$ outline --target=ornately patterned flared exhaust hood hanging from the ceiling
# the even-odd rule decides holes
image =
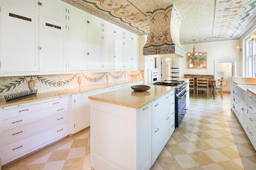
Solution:
[[[179,37],[182,18],[174,4],[146,12],[146,15],[150,31],[143,55],[157,58],[185,57]]]

